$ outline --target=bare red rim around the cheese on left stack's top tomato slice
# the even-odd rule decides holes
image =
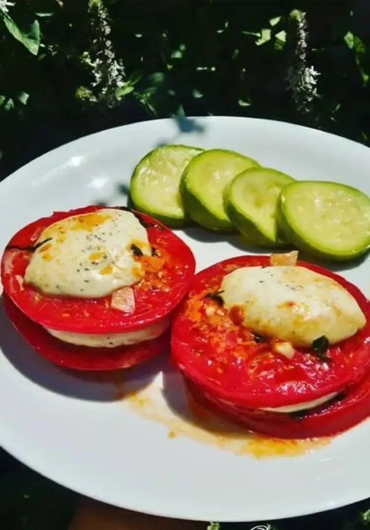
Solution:
[[[119,207],[112,208],[114,209]],[[98,211],[101,209],[105,208],[98,206],[87,206],[65,212],[56,212],[49,217],[43,217],[21,228],[20,231],[18,231],[12,237],[8,245],[27,246],[34,244],[42,229],[49,226],[50,224],[72,215],[91,213],[92,211]],[[177,261],[172,263],[172,286],[168,293],[161,292],[159,294],[158,291],[154,290],[153,293],[148,294],[147,291],[142,291],[144,292],[143,304],[145,305],[145,299],[147,298],[150,300],[150,304],[152,305],[149,310],[135,313],[133,315],[127,315],[121,314],[117,310],[112,310],[110,307],[103,307],[104,299],[86,301],[86,299],[82,298],[61,299],[46,296],[41,297],[41,301],[38,302],[38,307],[40,309],[38,309],[37,307],[32,306],[29,301],[32,293],[36,295],[36,290],[30,286],[27,286],[27,293],[30,293],[30,296],[27,293],[26,295],[22,293],[22,289],[14,275],[14,272],[10,270],[14,260],[19,258],[20,254],[22,254],[21,251],[16,250],[5,250],[2,258],[1,276],[4,290],[6,291],[7,295],[11,297],[17,307],[20,308],[21,311],[23,311],[27,316],[29,316],[31,320],[45,327],[60,331],[74,331],[82,333],[108,333],[119,332],[122,330],[130,331],[161,320],[173,310],[173,308],[186,294],[188,286],[195,272],[195,258],[189,246],[186,245],[186,243],[184,243],[172,231],[170,231],[169,228],[166,228],[162,223],[150,216],[138,213],[135,210],[130,211],[132,211],[137,217],[140,217],[140,219],[142,219],[146,225],[149,225],[147,230],[151,243],[153,244],[154,240],[155,245],[156,241],[160,240],[162,241],[162,244],[167,245],[167,248],[172,245],[174,249],[173,255],[174,253],[177,255],[177,260],[180,260],[183,266],[181,270],[175,270],[175,268],[178,266],[175,266],[174,263],[177,263]],[[31,240],[32,234],[36,234],[33,241]],[[135,289],[138,289],[135,292],[140,290],[137,286],[138,284],[134,286],[134,291]],[[61,302],[61,300],[63,302]],[[95,304],[95,302],[97,302],[97,304]],[[54,303],[58,304],[58,306],[55,308],[54,312],[49,311],[49,308],[52,308],[51,305]],[[76,305],[76,310],[73,307],[73,304]],[[68,307],[68,311],[64,312],[68,315],[66,318],[61,318],[60,316],[61,314],[64,315],[62,311],[63,306]],[[80,311],[82,317],[81,314],[78,314],[78,311]],[[87,316],[86,311],[88,312]]]

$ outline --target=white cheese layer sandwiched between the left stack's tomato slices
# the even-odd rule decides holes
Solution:
[[[169,325],[170,319],[169,317],[166,317],[146,328],[127,331],[126,333],[89,334],[57,331],[49,328],[45,328],[45,330],[53,335],[53,337],[76,346],[89,346],[90,348],[116,348],[117,346],[129,346],[145,340],[156,339],[169,328]]]

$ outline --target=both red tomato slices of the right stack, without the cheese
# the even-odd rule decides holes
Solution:
[[[197,401],[247,429],[282,438],[336,434],[370,415],[370,303],[344,278],[299,261],[301,267],[345,287],[367,323],[353,337],[330,346],[325,359],[303,348],[295,348],[292,358],[271,355],[269,341],[230,316],[217,294],[229,272],[269,264],[269,256],[245,256],[196,275],[173,322],[174,363]],[[330,394],[332,399],[306,410],[271,410],[315,402]]]

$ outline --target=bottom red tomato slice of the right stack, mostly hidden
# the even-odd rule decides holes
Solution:
[[[225,403],[187,381],[193,398],[220,416],[242,427],[274,438],[318,438],[333,436],[370,416],[370,372],[346,393],[329,403],[302,414],[248,410]]]

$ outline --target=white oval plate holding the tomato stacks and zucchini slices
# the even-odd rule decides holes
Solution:
[[[335,180],[370,193],[370,150],[344,138],[256,119],[150,121],[64,145],[1,183],[0,248],[52,210],[125,204],[134,165],[163,143],[235,149],[298,179]],[[201,229],[180,235],[198,270],[248,252],[229,236]],[[337,270],[370,295],[368,263]],[[256,458],[248,439],[189,423],[181,380],[165,359],[94,379],[34,354],[3,310],[0,326],[0,442],[73,490],[147,513],[219,521],[298,516],[370,496],[370,422],[299,456]],[[133,388],[143,396],[119,399],[118,391]]]

